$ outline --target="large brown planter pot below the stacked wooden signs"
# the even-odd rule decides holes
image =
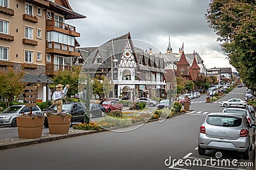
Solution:
[[[17,117],[17,127],[19,138],[35,139],[42,136],[44,125],[44,115],[42,112],[24,114]]]

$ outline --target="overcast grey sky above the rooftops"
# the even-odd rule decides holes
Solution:
[[[198,52],[207,68],[231,67],[221,52],[216,34],[207,26],[210,0],[70,0],[73,10],[87,18],[67,21],[75,25],[82,47],[100,46],[131,32],[166,53],[169,36],[173,52],[184,42],[184,52]],[[152,47],[152,46],[148,46]],[[144,49],[145,50],[145,49]],[[154,51],[159,53],[159,51]]]

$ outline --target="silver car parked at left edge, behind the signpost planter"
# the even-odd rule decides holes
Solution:
[[[17,127],[16,117],[21,116],[21,113],[28,114],[29,108],[25,105],[10,106],[0,113],[0,125],[12,125]],[[32,113],[41,112],[38,106],[32,107]]]

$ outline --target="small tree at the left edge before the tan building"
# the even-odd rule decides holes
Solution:
[[[6,107],[10,106],[10,101],[14,96],[18,96],[24,92],[25,83],[20,82],[23,72],[16,73],[12,67],[0,72],[0,96],[7,99]]]

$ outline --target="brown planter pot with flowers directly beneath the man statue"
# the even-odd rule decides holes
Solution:
[[[47,113],[50,134],[67,134],[72,116],[69,113]]]

